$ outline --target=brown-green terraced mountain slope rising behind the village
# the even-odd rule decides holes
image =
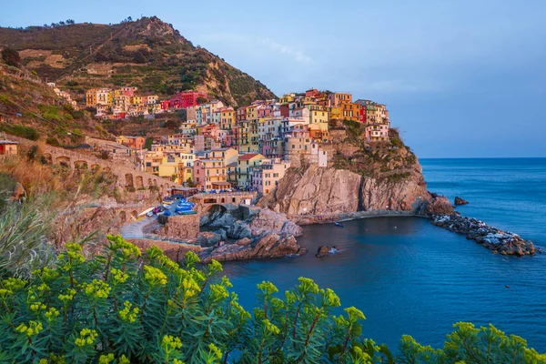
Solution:
[[[14,48],[38,76],[82,98],[93,86],[137,86],[162,96],[205,90],[232,106],[275,96],[155,16],[116,25],[0,27],[0,46]]]

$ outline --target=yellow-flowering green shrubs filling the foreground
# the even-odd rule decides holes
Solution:
[[[0,283],[0,358],[73,363],[394,363],[384,345],[362,336],[364,315],[345,308],[309,278],[278,294],[258,285],[252,314],[230,292],[215,260],[179,263],[158,248],[141,251],[107,237],[91,260],[66,244],[54,266]],[[3,241],[3,240],[0,240]],[[15,266],[23,264],[15,262]],[[6,272],[5,272],[6,273]],[[397,363],[544,363],[524,339],[494,327],[457,323],[442,349],[401,339]]]

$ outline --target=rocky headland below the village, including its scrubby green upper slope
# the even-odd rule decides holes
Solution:
[[[288,217],[355,211],[413,211],[425,215],[432,196],[419,160],[391,130],[389,143],[369,145],[349,125],[328,148],[328,167],[290,168],[259,204]]]

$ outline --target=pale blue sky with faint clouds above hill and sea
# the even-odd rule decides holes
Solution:
[[[544,0],[16,4],[0,26],[157,15],[278,96],[313,87],[387,104],[419,157],[546,157]]]

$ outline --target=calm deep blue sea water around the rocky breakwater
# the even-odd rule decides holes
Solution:
[[[430,191],[463,197],[463,215],[509,229],[546,247],[546,159],[424,159]],[[333,288],[344,307],[367,317],[364,333],[396,351],[402,334],[440,346],[451,325],[492,323],[546,351],[546,254],[513,258],[417,217],[352,221],[344,228],[305,227],[299,258],[225,264],[243,305],[256,284],[271,280],[281,292],[300,276]],[[314,258],[321,245],[342,251]],[[510,288],[506,288],[506,286]]]

